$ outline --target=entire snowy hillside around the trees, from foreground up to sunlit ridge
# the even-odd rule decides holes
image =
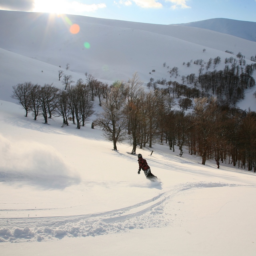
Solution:
[[[63,88],[58,70],[109,84],[137,71],[146,84],[169,79],[167,67],[177,66],[181,82],[199,68],[183,62],[220,56],[218,70],[242,52],[250,64],[256,42],[186,26],[8,11],[0,11],[0,34],[1,256],[254,256],[254,172],[228,160],[220,169],[202,165],[156,142],[136,151],[160,180],[151,182],[138,175],[128,140],[114,151],[91,120],[81,129],[62,128],[60,117],[35,121],[10,95],[25,81]],[[238,105],[256,111],[255,90]]]

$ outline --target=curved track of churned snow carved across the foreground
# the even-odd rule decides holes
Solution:
[[[196,182],[175,186],[138,204],[108,212],[86,215],[38,217],[38,218],[0,218],[0,242],[47,241],[65,236],[97,236],[126,232],[134,228],[153,228],[171,225],[176,214],[164,212],[168,201],[185,190],[214,187],[236,187],[227,183]]]

